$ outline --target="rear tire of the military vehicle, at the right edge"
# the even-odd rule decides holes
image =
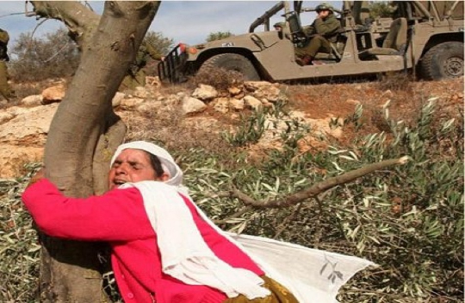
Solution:
[[[431,47],[421,59],[420,70],[426,80],[463,76],[464,43],[443,42]]]

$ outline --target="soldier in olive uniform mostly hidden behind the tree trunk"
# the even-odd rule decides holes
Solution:
[[[139,51],[136,55],[136,60],[129,66],[128,75],[124,77],[119,90],[134,89],[138,86],[145,86],[145,72],[142,70],[149,57],[153,60],[163,60],[162,55],[145,40],[142,41],[139,47]]]

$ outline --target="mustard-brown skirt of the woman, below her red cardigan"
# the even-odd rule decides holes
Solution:
[[[227,299],[224,303],[299,303],[294,295],[277,281],[268,278],[267,276],[261,276],[260,278],[265,281],[263,286],[271,291],[271,295],[266,298],[258,298],[254,300],[249,300],[244,295],[239,295],[235,298]]]

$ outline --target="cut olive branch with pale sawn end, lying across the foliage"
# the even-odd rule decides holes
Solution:
[[[398,159],[389,159],[389,160],[384,160],[381,162],[372,163],[365,167],[328,178],[325,181],[317,183],[308,189],[302,190],[300,192],[289,195],[282,199],[275,199],[275,200],[269,200],[269,201],[257,201],[251,198],[250,196],[240,192],[237,189],[232,189],[230,192],[221,192],[221,193],[218,193],[216,196],[220,196],[220,197],[229,196],[232,198],[237,198],[241,200],[245,205],[247,205],[244,208],[247,211],[250,210],[250,208],[252,207],[253,208],[283,208],[283,207],[288,207],[288,206],[300,203],[305,199],[316,197],[317,195],[327,191],[328,189],[334,186],[348,183],[350,181],[355,180],[356,178],[372,173],[374,171],[381,170],[386,167],[397,165],[397,164],[405,164],[408,160],[409,160],[408,156],[403,156]],[[239,211],[238,213],[243,214],[244,209]],[[236,215],[237,213],[230,216],[228,219],[231,219],[232,217]],[[225,221],[228,219],[224,219],[222,221]]]

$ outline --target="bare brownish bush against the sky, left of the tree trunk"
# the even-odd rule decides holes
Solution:
[[[80,60],[78,47],[65,29],[48,33],[44,38],[22,33],[11,54],[10,73],[16,82],[71,76]]]

